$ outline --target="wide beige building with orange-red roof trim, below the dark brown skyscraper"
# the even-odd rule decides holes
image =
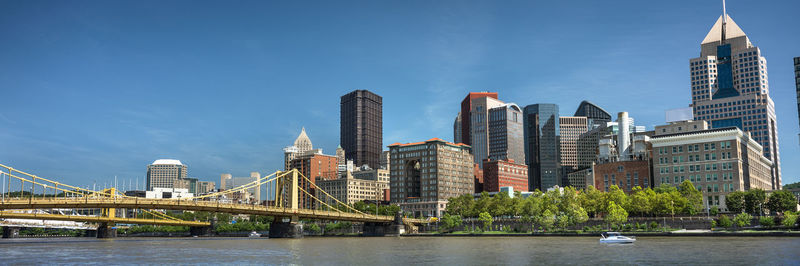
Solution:
[[[448,199],[475,190],[469,145],[434,138],[395,143],[389,145],[389,153],[391,202],[399,204],[404,212],[440,217]]]

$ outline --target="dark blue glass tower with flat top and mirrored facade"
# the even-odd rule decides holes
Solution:
[[[530,191],[563,186],[558,105],[531,104],[524,110],[525,159]]]

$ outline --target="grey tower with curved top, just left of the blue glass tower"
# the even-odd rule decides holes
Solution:
[[[522,109],[516,104],[489,109],[489,159],[525,163],[522,122]]]

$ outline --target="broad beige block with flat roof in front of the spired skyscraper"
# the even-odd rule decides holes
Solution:
[[[672,123],[694,128],[691,122]],[[702,126],[698,126],[702,127]],[[654,186],[692,181],[705,206],[727,211],[725,196],[754,188],[772,189],[772,161],[758,142],[736,127],[659,134],[653,147]]]

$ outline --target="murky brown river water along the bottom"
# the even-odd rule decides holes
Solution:
[[[795,237],[307,237],[2,239],[0,264],[798,265]]]

